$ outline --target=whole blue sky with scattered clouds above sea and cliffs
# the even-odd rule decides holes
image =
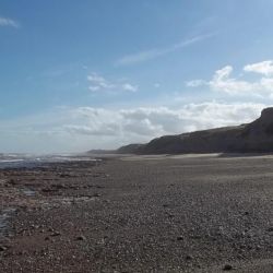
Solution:
[[[272,0],[1,0],[0,152],[234,126],[273,104]]]

